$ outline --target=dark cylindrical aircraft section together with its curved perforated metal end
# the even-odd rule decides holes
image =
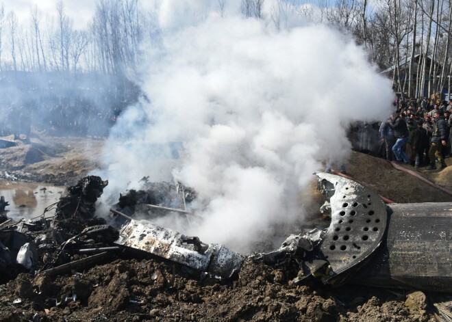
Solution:
[[[321,246],[332,273],[323,282],[452,292],[451,202],[387,206],[353,180],[317,176],[332,210]],[[355,254],[350,244],[367,248]]]

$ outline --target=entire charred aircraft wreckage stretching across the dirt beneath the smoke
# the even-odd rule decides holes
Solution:
[[[325,196],[321,209],[331,214],[329,228],[291,235],[278,250],[251,258],[297,270],[296,284],[318,278],[333,286],[353,282],[452,292],[452,202],[385,204],[349,178],[316,176]],[[153,224],[153,215],[136,219],[137,213],[194,215],[185,210],[186,202],[196,198],[194,191],[145,183],[146,190],[121,193],[110,209],[112,226],[95,216],[97,198],[108,185],[98,176],[66,188],[58,204],[37,220],[3,218],[0,282],[21,272],[67,273],[115,256],[159,256],[201,277],[233,278],[244,260],[241,254]],[[55,215],[48,217],[52,210]]]

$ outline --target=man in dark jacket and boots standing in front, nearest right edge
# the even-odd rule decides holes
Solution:
[[[429,150],[430,166],[427,167],[427,170],[436,170],[435,158],[438,159],[441,169],[447,167],[442,157],[442,147],[447,146],[447,124],[442,111],[435,111],[434,117],[434,129],[431,133],[431,146]]]

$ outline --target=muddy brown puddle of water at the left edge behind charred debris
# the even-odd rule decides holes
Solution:
[[[5,214],[12,218],[30,219],[42,215],[44,209],[58,202],[64,187],[49,183],[22,183],[0,180],[0,196],[10,203],[6,206]],[[53,215],[50,211],[48,215]]]

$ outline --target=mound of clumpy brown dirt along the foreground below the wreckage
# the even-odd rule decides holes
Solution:
[[[23,274],[0,291],[0,321],[36,314],[40,321],[434,321],[424,293],[296,286],[252,260],[226,284],[147,259],[116,260],[83,275]]]

